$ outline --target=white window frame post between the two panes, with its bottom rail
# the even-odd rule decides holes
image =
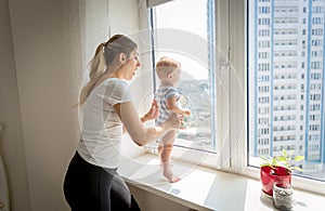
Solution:
[[[154,0],[147,0],[154,1]],[[162,2],[161,0],[160,2]],[[169,0],[166,0],[169,1]],[[248,167],[248,64],[247,64],[247,0],[216,0],[216,62],[217,77],[227,89],[229,97],[217,90],[217,149],[222,154],[208,155],[199,164],[260,180],[260,169]],[[238,90],[243,92],[238,92]],[[229,122],[226,127],[224,122]],[[187,150],[187,149],[186,149]],[[178,154],[176,149],[173,151]],[[182,151],[180,151],[181,154]],[[199,153],[199,151],[198,151]],[[191,162],[191,160],[187,160]],[[296,188],[325,194],[325,183],[292,176]]]

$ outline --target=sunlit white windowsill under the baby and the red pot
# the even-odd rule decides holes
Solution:
[[[158,157],[144,154],[122,162],[119,173],[128,184],[195,210],[275,210],[272,199],[261,195],[260,181],[174,161],[182,177],[169,183],[161,176]],[[325,207],[325,196],[295,190],[295,211]]]

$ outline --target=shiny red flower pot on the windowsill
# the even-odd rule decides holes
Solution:
[[[291,184],[291,171],[285,167],[261,167],[262,190],[269,196],[273,196],[273,183],[284,181]]]

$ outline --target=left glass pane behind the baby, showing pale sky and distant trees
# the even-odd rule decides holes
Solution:
[[[214,150],[213,15],[211,0],[178,0],[156,6],[154,18],[155,61],[170,56],[181,63],[180,103],[192,111],[176,145],[204,150]]]

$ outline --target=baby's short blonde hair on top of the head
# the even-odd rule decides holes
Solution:
[[[170,57],[162,56],[156,64],[156,71],[159,79],[165,79],[169,74],[180,68],[181,64]]]

